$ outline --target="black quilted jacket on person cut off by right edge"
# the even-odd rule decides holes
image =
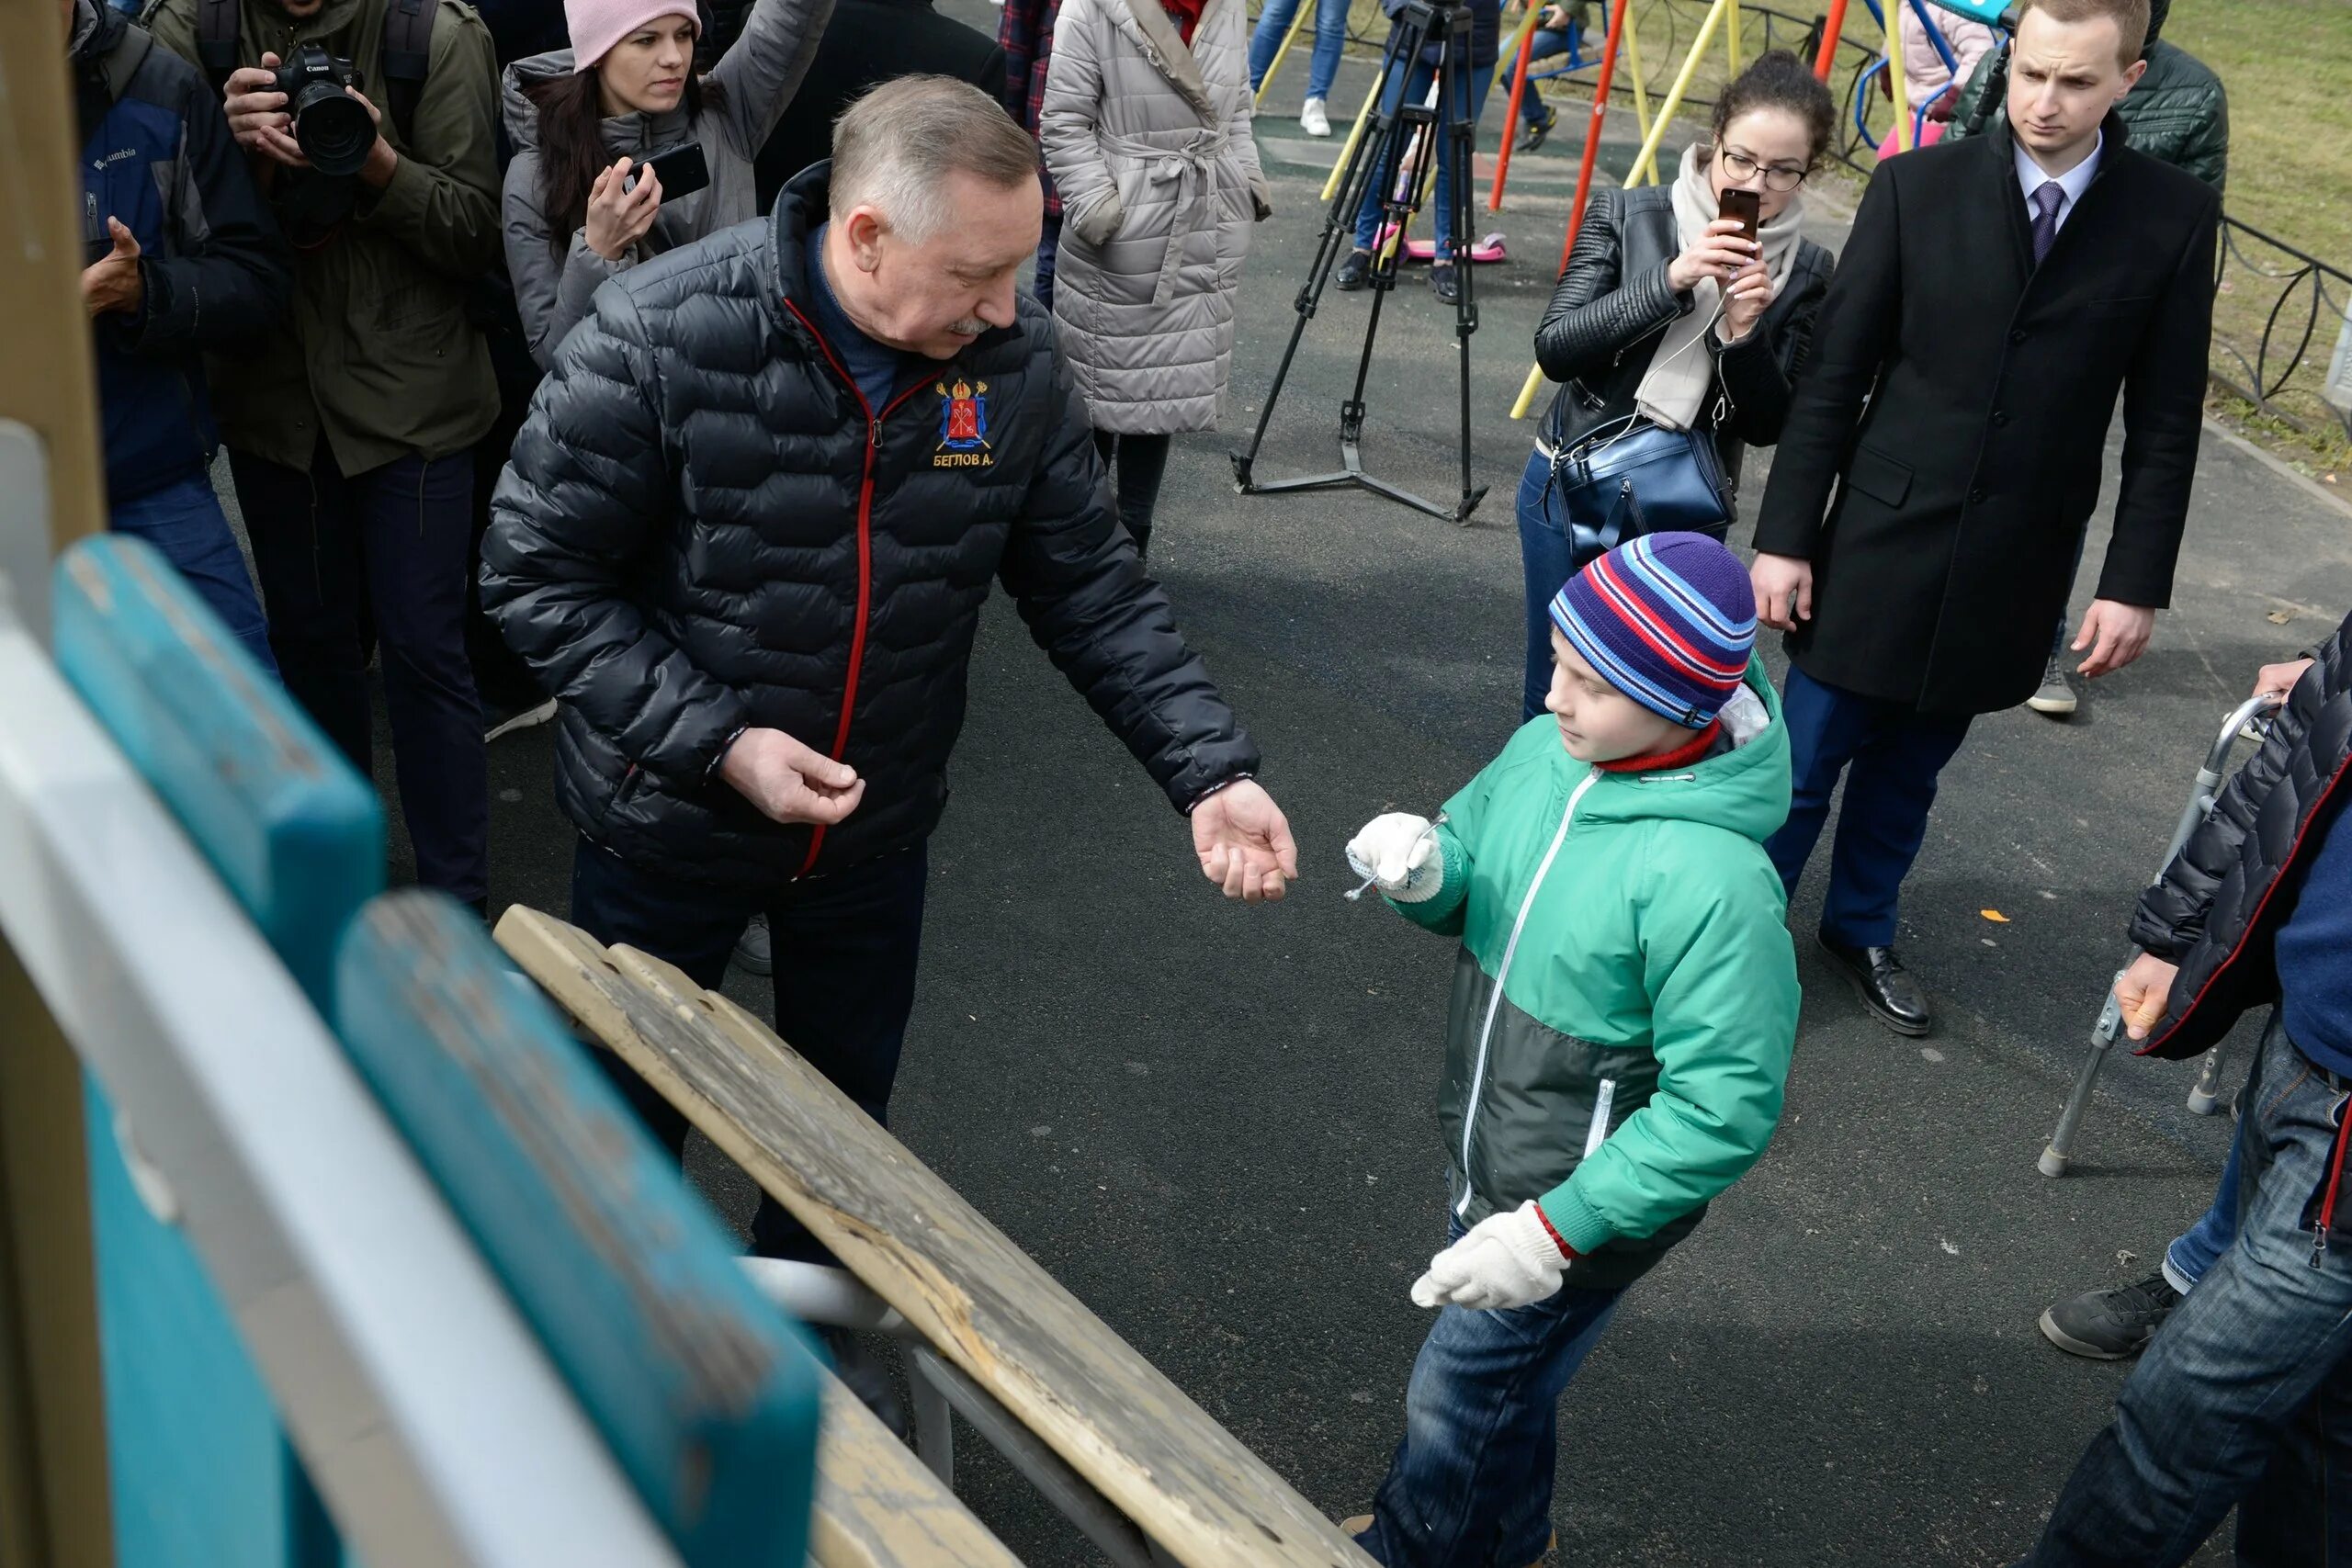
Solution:
[[[2352,621],[2336,628],[2211,816],[2131,917],[2131,940],[2180,966],[2140,1056],[2197,1056],[2239,1013],[2279,999],[2272,945],[2296,905],[2296,860],[2352,797]]]

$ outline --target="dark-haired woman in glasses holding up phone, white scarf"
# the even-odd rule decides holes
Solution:
[[[1830,89],[1795,54],[1773,49],[1724,89],[1710,139],[1684,148],[1672,186],[1592,193],[1536,329],[1536,360],[1559,393],[1519,480],[1524,717],[1543,712],[1552,682],[1552,595],[1623,543],[1609,536],[1618,529],[1569,517],[1562,458],[1635,425],[1703,430],[1729,508],[1740,451],[1780,437],[1835,266],[1797,233],[1804,179],[1835,122]],[[1757,195],[1757,240],[1722,216],[1724,190]]]

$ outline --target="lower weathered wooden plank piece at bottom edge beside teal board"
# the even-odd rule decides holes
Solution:
[[[826,1373],[809,1556],[818,1568],[1021,1568],[946,1481]]]

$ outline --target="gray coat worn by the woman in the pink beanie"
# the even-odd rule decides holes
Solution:
[[[604,120],[609,160],[644,160],[701,141],[710,165],[710,183],[694,195],[663,197],[654,228],[619,261],[588,249],[586,228],[574,230],[557,256],[553,223],[539,205],[539,106],[524,87],[572,75],[572,49],[534,54],[506,68],[501,96],[506,134],[515,143],[501,212],[506,270],[515,280],[522,334],[539,369],[555,367],[555,348],[588,315],[588,301],[607,277],[760,214],[753,160],[816,59],[830,16],[833,0],[757,0],[743,35],[703,78],[701,115],[677,106],[663,115],[630,110]]]

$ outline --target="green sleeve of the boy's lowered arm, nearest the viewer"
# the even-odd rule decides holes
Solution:
[[[1656,835],[1642,954],[1658,1091],[1538,1199],[1578,1253],[1649,1237],[1715,1199],[1764,1154],[1780,1121],[1797,1039],[1780,886],[1762,858],[1710,849],[1719,846],[1705,837]]]

